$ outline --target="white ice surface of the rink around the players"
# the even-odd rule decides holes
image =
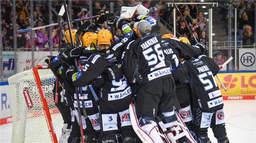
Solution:
[[[224,101],[224,109],[230,143],[256,143],[256,100]],[[0,126],[0,143],[10,143],[11,133],[11,123]],[[210,128],[208,133],[217,143]]]

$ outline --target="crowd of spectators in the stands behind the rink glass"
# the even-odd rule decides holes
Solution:
[[[186,0],[178,0],[179,2],[188,2]],[[33,10],[33,26],[42,26],[50,23],[56,23],[57,15],[52,11],[52,15],[49,14],[49,1],[34,0],[34,8],[30,8],[30,0],[18,0],[16,5],[13,5],[13,0],[0,0],[1,4],[1,22],[2,22],[2,39],[3,47],[13,48],[13,8],[16,8],[16,30],[25,29],[31,27],[30,11]],[[173,25],[174,15],[173,8],[168,7],[167,3],[171,0],[92,0],[92,14],[89,13],[89,0],[72,0],[72,19],[84,18],[91,15],[97,15],[99,11],[110,10],[110,2],[114,2],[114,12],[120,11],[122,6],[134,7],[138,4],[144,5],[150,10],[150,16],[155,17],[157,14],[161,19],[165,20],[168,24]],[[200,0],[189,0],[189,2],[200,2]],[[221,1],[220,1],[221,2]],[[252,45],[254,43],[254,16],[252,16],[252,11],[250,9],[254,8],[253,0],[229,0],[233,7],[239,9],[239,37],[243,40],[243,44]],[[227,2],[223,2],[223,5]],[[61,0],[52,0],[52,8],[58,12],[61,7]],[[189,25],[197,41],[206,43],[208,42],[208,20],[201,12],[198,5],[195,4],[183,4],[178,5],[185,22]],[[223,10],[223,15],[227,13]],[[254,14],[254,12],[253,12]],[[49,21],[51,17],[52,21]],[[65,16],[62,21],[65,21]],[[195,40],[189,33],[188,28],[185,25],[183,19],[176,14],[176,29],[181,36],[188,37],[192,44],[195,44]],[[81,22],[73,24],[74,28],[82,25]],[[50,50],[50,40],[52,40],[53,47],[58,48],[59,44],[64,45],[64,38],[60,36],[60,27],[54,26],[49,28],[38,29],[34,34],[34,46],[37,50]],[[107,23],[101,25],[99,29],[110,28]],[[67,25],[64,25],[64,29],[67,29]],[[49,37],[49,33],[52,31],[52,39]],[[117,34],[120,33],[120,29],[115,30]],[[31,43],[31,32],[27,33],[16,33],[17,37],[17,48],[23,48],[24,50],[30,50]]]

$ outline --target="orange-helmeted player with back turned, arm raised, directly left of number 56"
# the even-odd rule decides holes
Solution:
[[[82,72],[67,72],[72,75],[73,84],[83,86],[91,83],[100,88],[100,111],[102,119],[102,142],[115,143],[120,118],[121,134],[124,143],[134,143],[135,134],[129,119],[129,104],[133,99],[130,86],[126,82],[121,69],[121,53],[133,36],[129,25],[121,18],[114,17],[113,25],[122,27],[124,38],[111,45],[112,34],[108,30],[98,33],[99,54],[93,54],[86,61]],[[118,116],[119,115],[119,116]]]

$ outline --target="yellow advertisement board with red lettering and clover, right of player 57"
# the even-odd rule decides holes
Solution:
[[[227,91],[219,84],[215,77],[224,100],[256,99],[256,72],[248,73],[219,73]]]

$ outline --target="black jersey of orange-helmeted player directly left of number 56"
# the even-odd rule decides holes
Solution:
[[[131,88],[123,76],[121,67],[110,62],[115,62],[113,59],[116,59],[113,54],[92,54],[84,63],[82,72],[72,76],[73,84],[91,84],[95,88],[100,88],[98,96],[101,101],[116,102],[130,99]]]

